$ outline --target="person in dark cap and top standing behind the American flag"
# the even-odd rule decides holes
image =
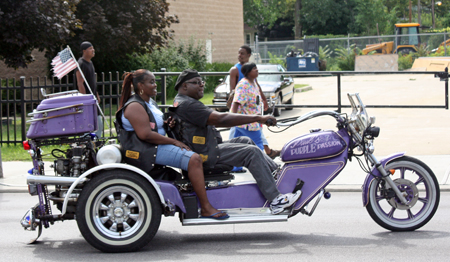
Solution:
[[[78,59],[78,64],[80,66],[80,69],[83,71],[84,78],[81,75],[80,71],[77,69],[75,71],[75,81],[77,89],[82,94],[93,94],[97,98],[97,101],[100,103],[100,96],[97,92],[97,78],[95,75],[95,67],[94,63],[91,61],[95,56],[94,46],[90,42],[86,41],[81,43],[80,49],[83,54],[80,59]],[[95,132],[95,134],[97,135],[97,137],[101,137],[103,130],[102,116],[97,115],[97,119],[98,130],[97,132]]]

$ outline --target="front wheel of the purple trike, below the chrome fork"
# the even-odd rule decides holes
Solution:
[[[373,180],[366,206],[372,219],[392,231],[413,231],[428,223],[439,206],[440,198],[439,184],[433,171],[420,160],[407,156],[389,162],[386,170],[395,170],[392,180],[401,192],[406,193],[408,206],[401,204],[397,197],[384,197],[381,181]]]

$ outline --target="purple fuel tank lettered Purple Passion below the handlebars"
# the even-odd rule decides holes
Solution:
[[[334,131],[318,131],[292,139],[281,150],[283,162],[330,158],[342,153],[347,143]]]

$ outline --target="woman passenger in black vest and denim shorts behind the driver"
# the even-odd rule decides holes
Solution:
[[[132,94],[132,87],[134,87],[134,94]],[[151,99],[152,96],[156,96],[156,93],[155,76],[150,71],[139,69],[133,73],[124,74],[120,107],[116,114],[117,118],[121,118],[123,129],[128,132],[134,131],[141,140],[137,143],[145,141],[150,144],[149,146],[155,146],[156,155],[146,156],[145,162],[188,171],[188,177],[200,201],[202,217],[229,218],[227,213],[215,209],[207,198],[202,158],[184,143],[166,136],[163,128],[163,113]],[[147,113],[148,110],[143,106],[142,101],[151,112]],[[154,122],[151,121],[153,119]]]

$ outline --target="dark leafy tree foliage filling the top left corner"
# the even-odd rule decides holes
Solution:
[[[171,38],[166,0],[2,0],[0,59],[14,68],[33,61],[31,51],[53,58],[65,45],[75,56],[90,41],[97,71],[115,71],[129,54],[165,46]]]

